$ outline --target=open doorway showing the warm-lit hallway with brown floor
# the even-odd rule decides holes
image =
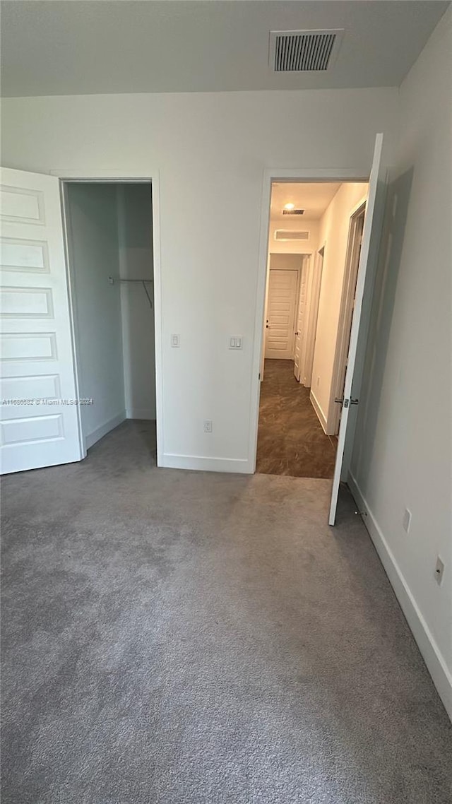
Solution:
[[[257,472],[334,476],[367,191],[273,184]]]

